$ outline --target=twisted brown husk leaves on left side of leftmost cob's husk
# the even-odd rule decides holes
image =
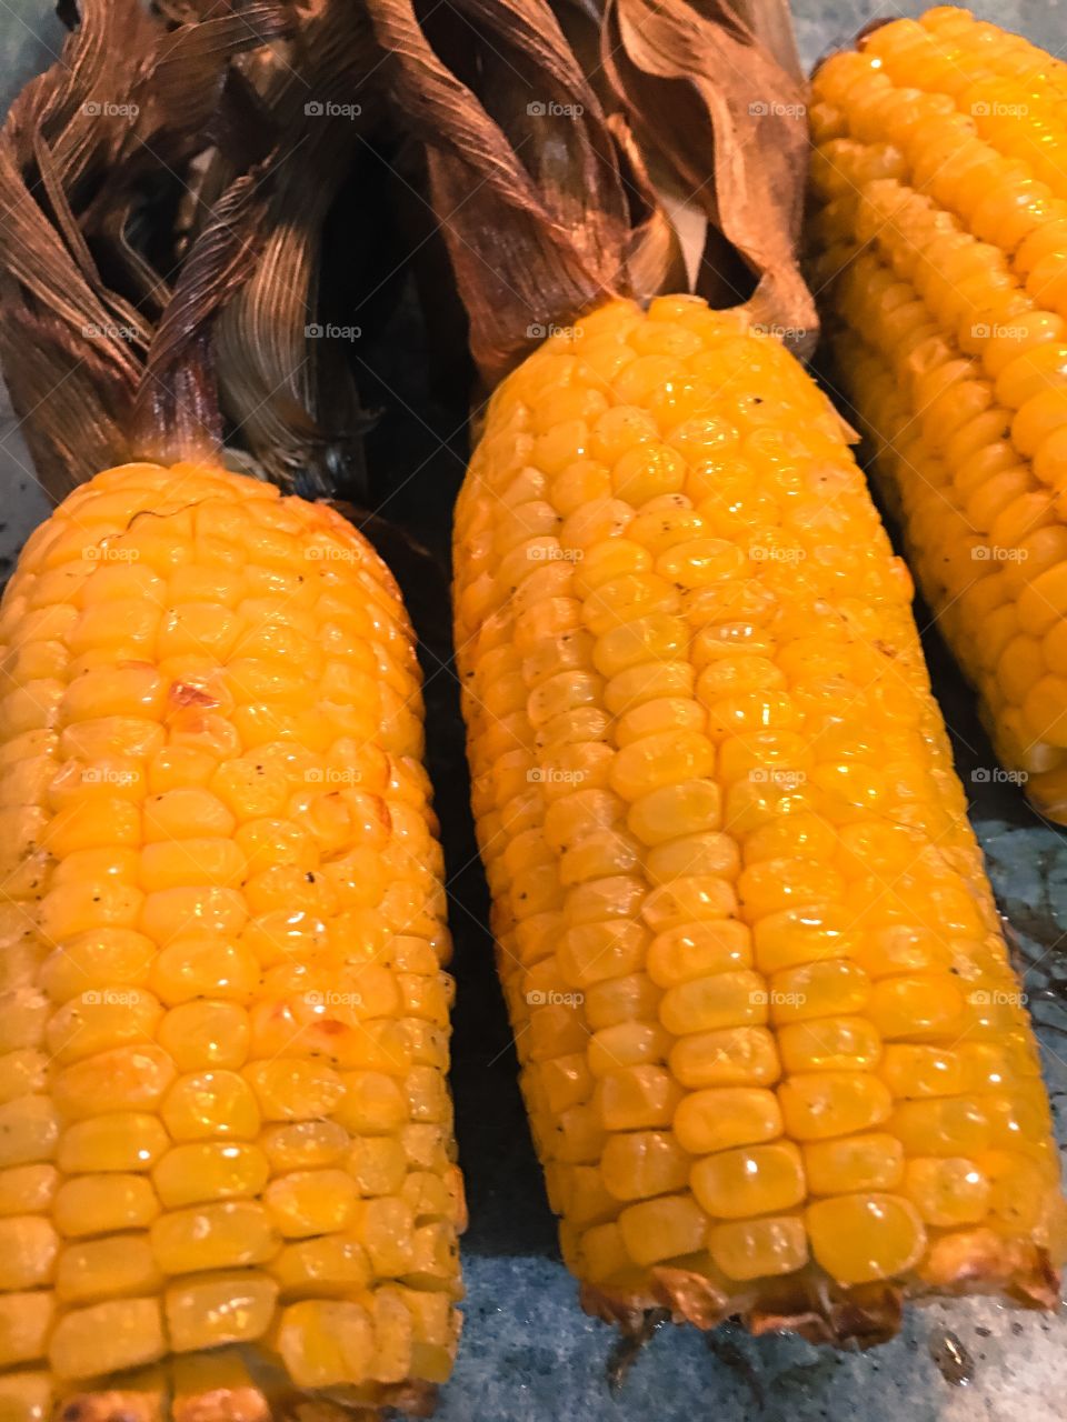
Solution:
[[[138,242],[138,229],[176,206],[225,108],[233,55],[289,26],[275,0],[176,30],[138,0],[85,0],[60,61],[11,105],[0,135],[0,364],[53,498],[138,455],[135,407],[179,260],[172,243]],[[255,216],[236,193],[222,226],[206,220],[221,266],[212,274],[201,262],[192,290],[223,294],[230,246],[246,240]],[[155,373],[172,365],[178,336],[189,341],[189,370],[199,367],[191,314],[184,303]],[[175,456],[206,448],[218,427],[202,378],[184,394]]]

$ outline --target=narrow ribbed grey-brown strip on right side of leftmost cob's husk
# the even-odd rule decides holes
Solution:
[[[366,491],[360,437],[370,417],[347,353],[307,333],[329,316],[319,309],[323,225],[378,119],[377,90],[363,82],[376,63],[361,10],[310,0],[293,44],[246,68],[285,139],[255,272],[216,326],[219,384],[258,468],[306,496]]]

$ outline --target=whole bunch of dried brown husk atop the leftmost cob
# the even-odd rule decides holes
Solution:
[[[53,498],[132,458],[359,482],[346,353],[306,327],[376,60],[334,0],[87,0],[0,135],[0,364]]]

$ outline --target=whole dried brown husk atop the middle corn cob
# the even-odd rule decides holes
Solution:
[[[367,6],[398,119],[428,148],[487,381],[612,296],[687,284],[745,301],[800,348],[814,341],[795,262],[807,124],[784,0],[751,0],[748,17],[710,0],[558,0],[559,17],[545,0],[461,0],[462,46],[414,0]],[[686,208],[708,232],[689,283]]]

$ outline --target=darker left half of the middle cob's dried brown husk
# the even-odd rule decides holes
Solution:
[[[629,257],[656,203],[639,172],[627,195],[606,117],[545,0],[452,9],[509,75],[502,84],[482,77],[478,97],[430,44],[411,0],[368,3],[398,118],[427,145],[471,351],[495,384],[548,326],[612,296],[652,294],[637,289],[644,264],[630,269]],[[528,94],[543,95],[535,102],[545,111],[572,109],[552,144],[539,141],[545,115],[529,112]],[[660,232],[654,240],[663,245]]]

